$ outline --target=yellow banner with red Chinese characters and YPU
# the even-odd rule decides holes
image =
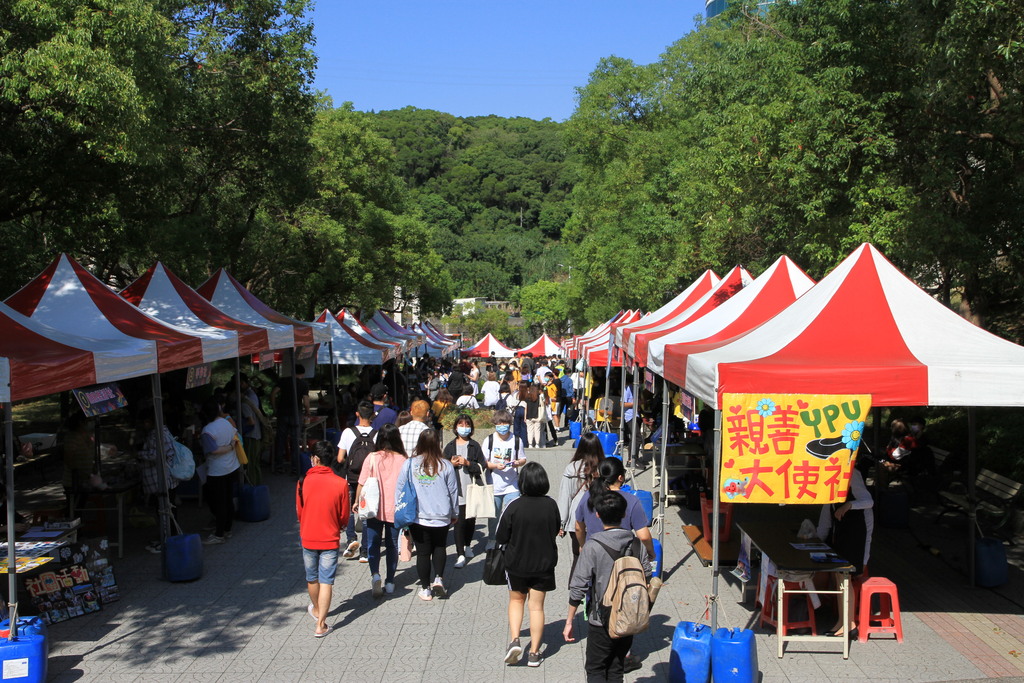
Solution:
[[[867,394],[723,394],[722,501],[845,501],[870,408]]]

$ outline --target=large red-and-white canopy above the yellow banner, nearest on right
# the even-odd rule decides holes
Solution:
[[[673,353],[678,349],[678,353]],[[1024,347],[964,319],[861,245],[783,311],[711,350],[668,352],[685,388],[867,393],[872,405],[1024,405]]]

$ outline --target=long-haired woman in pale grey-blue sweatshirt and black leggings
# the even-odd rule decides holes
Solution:
[[[416,544],[418,595],[421,600],[444,597],[444,551],[449,527],[459,518],[459,484],[455,467],[441,455],[440,438],[433,429],[420,433],[416,457],[402,466],[397,488],[401,489],[410,479],[416,487],[416,521],[409,530]]]

